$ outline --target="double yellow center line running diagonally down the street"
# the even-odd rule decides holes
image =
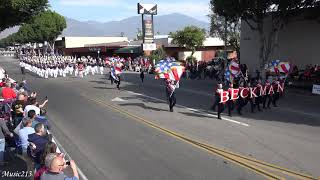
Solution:
[[[125,116],[128,116],[138,122],[141,122],[149,127],[152,127],[154,129],[157,129],[167,135],[170,135],[171,137],[174,137],[176,139],[179,139],[183,142],[186,142],[194,147],[197,147],[197,148],[200,148],[206,152],[209,152],[210,154],[214,154],[214,155],[218,155],[224,159],[227,159],[233,163],[236,163],[238,164],[239,166],[241,167],[244,167],[246,169],[249,169],[251,171],[254,171],[255,173],[257,174],[260,174],[264,177],[266,177],[267,179],[285,179],[283,177],[280,177],[274,173],[271,173],[271,172],[268,172],[268,171],[265,171],[263,168],[266,168],[266,169],[269,169],[269,170],[273,170],[273,171],[278,171],[278,172],[281,172],[281,173],[284,173],[284,174],[287,174],[289,176],[295,176],[299,179],[311,179],[311,180],[316,180],[316,178],[310,176],[310,175],[306,175],[306,174],[302,174],[302,173],[298,173],[298,172],[294,172],[294,171],[291,171],[291,170],[288,170],[286,168],[282,168],[280,166],[276,166],[276,165],[273,165],[273,164],[269,164],[269,163],[266,163],[266,162],[263,162],[263,161],[259,161],[257,159],[254,159],[254,158],[251,158],[251,157],[246,157],[246,156],[243,156],[243,155],[240,155],[240,154],[237,154],[237,153],[233,153],[233,152],[230,152],[230,151],[226,151],[226,150],[222,150],[222,149],[219,149],[219,148],[216,148],[216,147],[213,147],[212,145],[208,145],[208,144],[205,144],[205,143],[201,143],[201,142],[198,142],[198,141],[194,141],[182,134],[179,134],[177,132],[174,132],[174,131],[171,131],[169,129],[166,129],[166,128],[163,128],[155,123],[152,123],[151,121],[148,121],[142,117],[139,117],[137,115],[134,115],[128,111],[125,111],[125,110],[122,110],[121,108],[113,105],[113,104],[109,104],[109,103],[106,103],[106,102],[103,102],[101,100],[98,100],[98,99],[91,99],[89,98],[87,95],[83,95],[84,97],[86,97],[87,99],[91,100],[91,101],[94,101],[104,107],[107,107],[111,110],[114,110],[114,111],[117,111],[119,112],[120,114],[122,115],[125,115]]]

